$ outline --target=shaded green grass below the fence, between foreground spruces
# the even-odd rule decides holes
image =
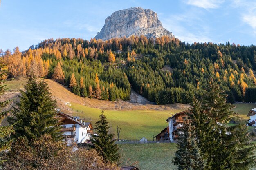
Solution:
[[[119,145],[121,154],[123,153],[124,163],[137,161],[140,170],[174,170],[175,165],[171,163],[174,153],[177,150],[176,144],[121,144]]]

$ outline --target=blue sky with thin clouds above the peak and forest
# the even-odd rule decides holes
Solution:
[[[111,13],[152,9],[182,41],[256,44],[253,0],[0,0],[0,49],[28,49],[47,38],[94,37]]]

